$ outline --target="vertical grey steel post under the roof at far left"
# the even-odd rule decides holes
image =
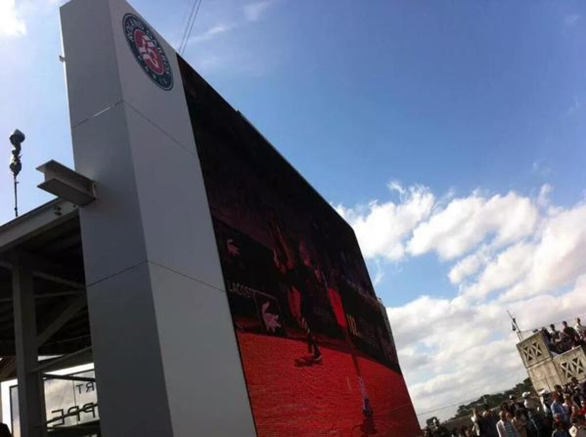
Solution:
[[[46,437],[46,427],[36,426],[45,422],[46,413],[43,381],[35,372],[39,357],[33,273],[23,264],[12,269],[12,292],[21,436]]]

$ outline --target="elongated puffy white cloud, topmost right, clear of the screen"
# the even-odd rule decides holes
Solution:
[[[452,200],[415,228],[407,251],[412,255],[436,251],[442,260],[453,260],[493,234],[491,243],[497,246],[530,235],[538,215],[531,200],[516,193],[496,194],[490,199],[473,193]]]

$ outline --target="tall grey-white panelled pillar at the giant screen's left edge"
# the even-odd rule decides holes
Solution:
[[[254,436],[175,52],[145,74],[121,0],[61,9],[101,428],[114,436]]]

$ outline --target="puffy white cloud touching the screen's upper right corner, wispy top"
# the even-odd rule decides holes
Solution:
[[[434,206],[434,195],[423,186],[404,188],[393,183],[390,187],[401,194],[400,202],[375,200],[366,207],[336,208],[354,228],[365,257],[401,260],[406,254],[404,239]]]

